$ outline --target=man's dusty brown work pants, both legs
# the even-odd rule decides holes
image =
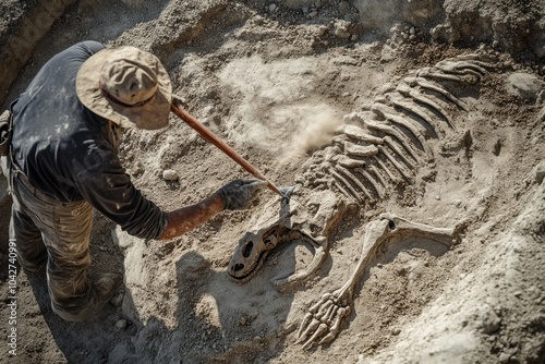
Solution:
[[[87,202],[60,203],[34,189],[22,172],[10,167],[7,168],[13,197],[10,242],[15,242],[20,265],[34,271],[47,260],[53,312],[66,320],[87,318],[93,308],[89,307],[92,281],[87,276],[92,206]]]

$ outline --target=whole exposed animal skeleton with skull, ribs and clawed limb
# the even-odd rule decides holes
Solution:
[[[271,204],[277,202],[269,203],[265,207],[269,215],[261,216],[256,221],[258,228],[240,240],[228,267],[229,275],[239,282],[250,280],[276,245],[295,239],[314,246],[313,260],[305,270],[274,284],[286,290],[313,275],[326,257],[331,229],[351,203],[372,207],[386,199],[393,189],[414,184],[419,167],[434,161],[429,141],[456,133],[451,114],[470,110],[452,90],[476,88],[494,61],[479,54],[440,61],[404,77],[397,87],[389,87],[370,110],[346,116],[346,124],[331,145],[314,153],[298,178],[295,195],[304,199],[300,203],[307,208],[301,208],[298,198],[284,199],[280,217],[275,218],[270,211],[275,210]],[[301,190],[311,193],[298,193]],[[424,235],[447,246],[458,235],[455,229],[433,228],[392,214],[368,222],[353,274],[341,288],[324,294],[303,318],[298,335],[303,348],[335,339],[342,319],[350,313],[354,287],[370,260],[389,239],[408,234]]]

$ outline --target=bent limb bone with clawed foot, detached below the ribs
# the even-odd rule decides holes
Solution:
[[[320,325],[308,325],[310,317],[307,314],[301,324],[298,337],[298,342],[302,342],[310,336],[310,339],[305,341],[303,348],[310,348],[315,343],[323,344],[335,339],[338,333],[340,321],[348,316],[347,312],[350,311],[353,304],[355,288],[361,282],[363,274],[371,262],[377,258],[378,252],[386,242],[390,241],[392,238],[402,239],[409,235],[429,239],[444,244],[447,248],[452,245],[453,240],[457,238],[455,236],[455,229],[435,228],[412,222],[392,214],[383,214],[377,220],[368,222],[365,227],[360,258],[352,275],[341,288],[331,293],[324,294],[316,304],[328,308],[331,304],[338,306],[336,317],[329,318],[326,323],[322,323]],[[313,306],[313,312],[311,312],[310,315],[313,315],[314,320],[319,320],[319,318],[313,314],[314,312],[319,312],[316,305]],[[327,330],[324,330],[323,325],[326,325]],[[318,339],[320,340],[317,341]]]

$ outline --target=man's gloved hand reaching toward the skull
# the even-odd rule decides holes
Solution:
[[[234,180],[216,192],[223,199],[223,209],[238,210],[246,207],[257,195],[257,192],[267,185],[262,180]]]

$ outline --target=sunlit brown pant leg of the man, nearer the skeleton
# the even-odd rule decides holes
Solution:
[[[60,203],[21,182],[20,177],[14,179],[13,192],[21,209],[41,232],[53,312],[64,319],[80,320],[90,298],[87,269],[93,208],[87,202]]]

